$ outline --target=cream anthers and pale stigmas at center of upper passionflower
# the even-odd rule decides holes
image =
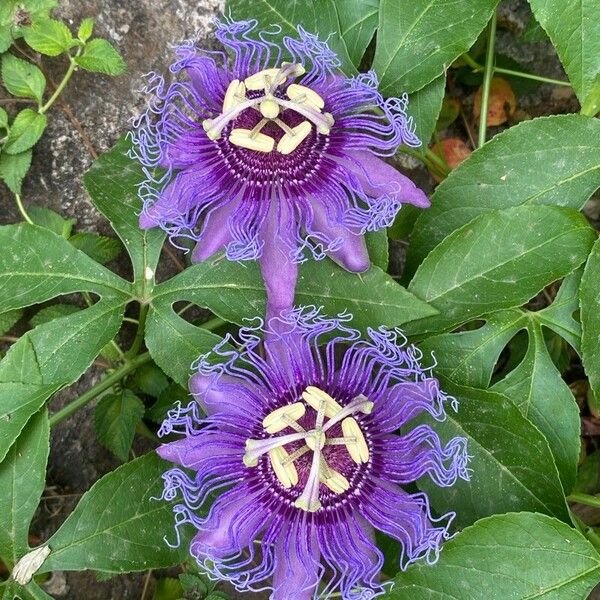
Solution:
[[[318,133],[328,135],[334,124],[330,113],[322,112],[325,101],[314,90],[291,83],[284,94],[278,93],[290,78],[304,74],[302,65],[283,63],[279,68],[263,69],[247,77],[244,81],[234,79],[228,86],[223,100],[223,110],[214,119],[205,119],[202,127],[211,140],[218,140],[223,129],[247,110],[258,111],[261,120],[252,128],[234,128],[229,134],[229,141],[235,146],[254,150],[255,152],[273,152],[291,154],[310,135],[313,126]],[[248,97],[247,92],[252,92]],[[295,127],[290,127],[280,114],[285,110],[293,110],[302,120]],[[277,145],[275,138],[262,133],[269,123],[274,123],[282,130]]]

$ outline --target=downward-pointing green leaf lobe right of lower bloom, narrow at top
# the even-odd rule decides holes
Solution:
[[[581,446],[579,408],[552,362],[541,325],[530,321],[527,330],[529,346],[525,357],[491,389],[511,398],[546,436],[565,493],[569,493],[575,483]]]

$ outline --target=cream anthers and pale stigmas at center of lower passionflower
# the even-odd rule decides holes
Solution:
[[[360,395],[343,407],[329,394],[314,386],[308,386],[304,390],[302,399],[304,402],[287,404],[272,411],[262,423],[268,434],[279,433],[287,428],[294,430],[294,433],[246,440],[244,464],[247,467],[255,467],[258,465],[258,459],[268,454],[278,481],[283,487],[290,489],[299,484],[296,461],[307,452],[312,452],[310,471],[304,489],[294,505],[301,510],[315,512],[321,508],[321,483],[335,494],[341,494],[350,487],[346,477],[327,464],[323,455],[325,446],[343,445],[357,465],[368,462],[369,447],[360,425],[352,415],[358,412],[369,414],[373,410],[373,403]],[[316,413],[314,426],[308,430],[298,422],[306,414],[306,405]],[[331,435],[331,429],[337,424],[341,424],[343,437]],[[292,452],[286,450],[285,446],[298,446],[298,442],[302,442],[302,445]]]

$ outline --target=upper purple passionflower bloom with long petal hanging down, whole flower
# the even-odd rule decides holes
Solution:
[[[278,30],[256,26],[217,21],[225,51],[177,48],[173,80],[150,76],[133,152],[148,174],[141,227],[192,238],[196,262],[223,249],[260,259],[277,314],[307,256],[364,271],[363,234],[389,226],[401,204],[429,201],[381,159],[419,145],[406,95],[384,99],[372,71],[344,76],[301,27],[281,46]]]

